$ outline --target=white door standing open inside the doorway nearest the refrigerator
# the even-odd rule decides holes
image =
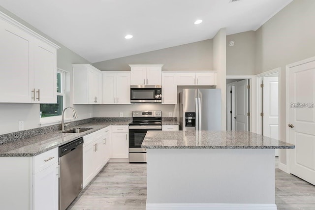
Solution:
[[[235,130],[249,130],[248,80],[235,83]]]

